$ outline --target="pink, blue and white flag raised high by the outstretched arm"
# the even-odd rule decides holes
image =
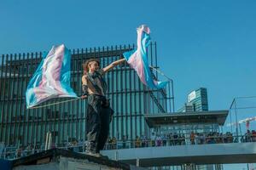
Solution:
[[[143,84],[150,88],[164,88],[167,82],[155,81],[148,66],[147,47],[150,42],[149,33],[148,26],[139,26],[137,28],[137,50],[125,52],[123,55],[131,68],[137,71],[137,75]]]

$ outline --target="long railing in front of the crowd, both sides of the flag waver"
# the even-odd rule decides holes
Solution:
[[[229,143],[247,143],[256,142],[256,136],[207,136],[207,137],[195,137],[195,138],[178,138],[178,139],[137,139],[137,140],[117,140],[111,143],[106,143],[104,150],[122,150],[131,148],[145,148],[145,147],[165,147],[165,146],[177,146],[177,145],[194,145],[194,144],[229,144]],[[65,144],[62,144],[65,145]],[[0,158],[2,159],[18,159],[20,157],[29,156],[35,153],[44,151],[44,145],[41,145],[39,149],[26,148],[17,149],[16,147],[5,147],[2,152],[0,149]],[[84,152],[86,149],[86,142],[78,144],[66,144],[65,146],[53,145],[52,148],[72,150],[75,152]]]

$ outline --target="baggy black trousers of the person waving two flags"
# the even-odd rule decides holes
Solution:
[[[91,95],[88,99],[86,116],[86,133],[90,150],[103,150],[108,139],[109,123],[113,110],[102,106],[102,97]],[[95,147],[95,148],[94,148]]]

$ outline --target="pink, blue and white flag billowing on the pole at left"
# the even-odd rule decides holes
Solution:
[[[70,88],[70,65],[69,50],[63,44],[53,46],[27,85],[26,108],[53,98],[78,98]]]

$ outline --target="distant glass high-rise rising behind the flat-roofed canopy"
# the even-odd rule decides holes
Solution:
[[[179,112],[208,111],[207,88],[198,88],[188,95],[185,105]]]

